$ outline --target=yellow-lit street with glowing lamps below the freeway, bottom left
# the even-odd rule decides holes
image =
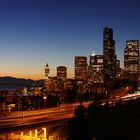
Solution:
[[[67,120],[44,123],[36,126],[26,126],[24,128],[13,128],[0,134],[0,139],[14,140],[53,140],[53,138],[67,138]]]

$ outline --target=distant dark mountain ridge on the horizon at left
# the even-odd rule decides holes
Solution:
[[[32,80],[24,78],[15,78],[15,77],[0,77],[0,86],[31,86],[31,85],[42,85],[43,79],[41,80]]]

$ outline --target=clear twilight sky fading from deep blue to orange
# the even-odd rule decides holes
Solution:
[[[139,0],[0,0],[0,76],[44,78],[48,62],[68,68],[74,56],[103,53],[103,28],[114,31],[123,67],[126,40],[140,39]]]

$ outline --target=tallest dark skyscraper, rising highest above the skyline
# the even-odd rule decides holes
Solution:
[[[104,84],[111,84],[116,79],[116,54],[115,41],[113,40],[113,30],[105,27],[103,31],[103,66]]]

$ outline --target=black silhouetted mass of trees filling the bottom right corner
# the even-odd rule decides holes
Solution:
[[[140,140],[140,98],[115,106],[79,106],[68,130],[69,140]]]

